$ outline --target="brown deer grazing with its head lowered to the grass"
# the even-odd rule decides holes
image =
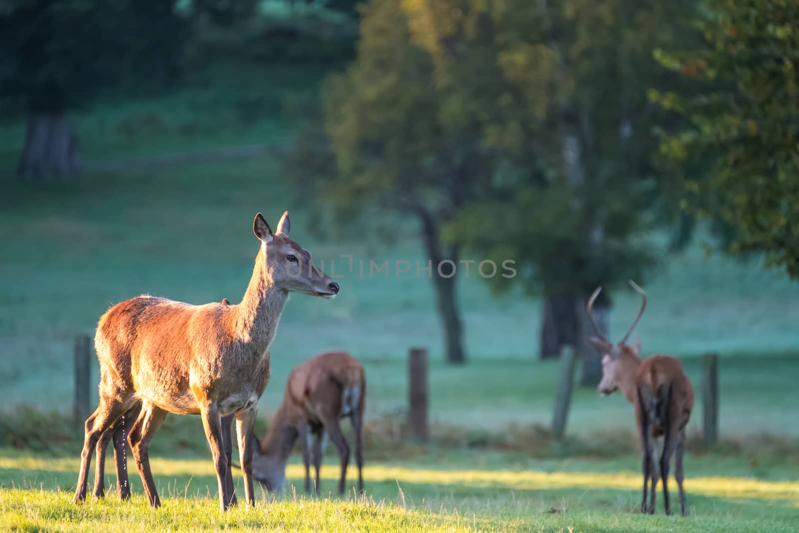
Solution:
[[[347,352],[325,352],[312,357],[288,375],[283,403],[277,409],[269,431],[260,443],[252,436],[252,473],[268,491],[282,491],[286,479],[288,454],[297,438],[302,444],[305,465],[305,491],[311,491],[311,445],[316,467],[316,493],[319,493],[322,455],[328,436],[339,451],[341,478],[339,493],[344,494],[349,447],[339,420],[348,416],[355,433],[355,458],[358,464],[358,490],[364,491],[364,367]]]

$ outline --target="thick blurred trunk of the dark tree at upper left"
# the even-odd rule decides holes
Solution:
[[[20,179],[78,173],[78,136],[63,113],[30,113],[25,148],[19,159]]]

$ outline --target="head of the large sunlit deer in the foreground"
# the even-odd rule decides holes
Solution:
[[[252,232],[261,242],[264,277],[276,288],[286,292],[300,292],[310,296],[332,298],[339,293],[339,284],[330,279],[311,261],[311,253],[288,238],[292,227],[288,211],[277,223],[277,233],[258,213],[252,221]]]

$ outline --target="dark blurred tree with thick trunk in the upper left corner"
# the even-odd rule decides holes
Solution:
[[[0,10],[0,97],[25,109],[22,178],[77,171],[68,112],[125,82],[163,82],[185,36],[173,2],[26,0]]]

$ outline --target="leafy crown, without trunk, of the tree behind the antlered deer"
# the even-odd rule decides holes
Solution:
[[[640,279],[654,265],[656,250],[640,236],[662,221],[653,209],[662,191],[649,159],[656,146],[650,130],[662,113],[654,113],[645,89],[670,82],[650,54],[690,38],[682,21],[693,9],[693,2],[530,2],[509,9],[507,26],[521,25],[527,47],[545,46],[555,63],[536,74],[547,77],[539,80],[547,91],[527,105],[534,120],[517,128],[514,113],[507,126],[527,133],[521,157],[499,166],[482,211],[465,213],[459,231],[469,232],[478,218],[489,221],[492,238],[475,245],[530,267],[521,270],[528,290],[586,292]],[[525,11],[539,19],[519,20]],[[505,72],[505,81],[515,79]],[[517,89],[535,94],[530,85]],[[515,103],[516,112],[523,103]]]

